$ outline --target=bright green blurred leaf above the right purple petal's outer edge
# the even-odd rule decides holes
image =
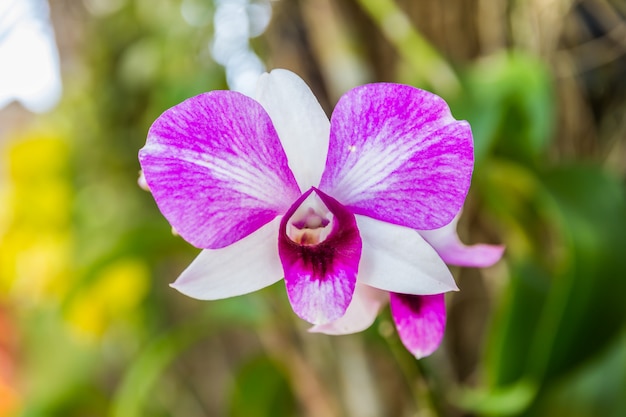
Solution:
[[[545,64],[521,51],[500,53],[479,61],[463,79],[469,99],[455,116],[472,126],[476,161],[496,152],[533,165],[550,143],[554,119]]]

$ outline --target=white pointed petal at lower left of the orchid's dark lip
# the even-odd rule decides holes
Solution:
[[[172,287],[200,300],[217,300],[265,288],[283,277],[276,236],[277,217],[254,233],[222,249],[206,249]]]

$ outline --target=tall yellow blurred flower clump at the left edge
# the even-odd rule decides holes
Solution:
[[[0,291],[26,305],[58,298],[70,285],[69,151],[62,138],[35,132],[2,154]]]

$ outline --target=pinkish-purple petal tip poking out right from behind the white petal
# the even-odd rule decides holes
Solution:
[[[419,234],[437,251],[444,262],[450,265],[486,268],[502,258],[503,245],[475,244],[465,245],[456,232],[460,213],[439,229],[418,230]]]

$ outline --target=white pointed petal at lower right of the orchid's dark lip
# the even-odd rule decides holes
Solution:
[[[356,216],[363,239],[359,282],[403,294],[458,290],[450,270],[415,230]]]

